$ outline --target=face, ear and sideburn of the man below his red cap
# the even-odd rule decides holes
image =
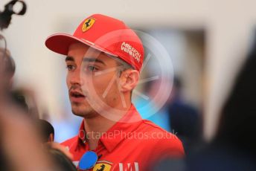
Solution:
[[[139,72],[125,62],[108,54],[75,43],[68,48],[65,59],[68,74],[66,83],[71,108],[82,117],[95,117],[99,110],[94,104],[125,109],[122,101],[130,103],[131,91],[138,83]]]

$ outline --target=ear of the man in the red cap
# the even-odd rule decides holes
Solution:
[[[138,83],[140,73],[134,69],[127,69],[120,76],[120,89],[122,92],[132,91]]]

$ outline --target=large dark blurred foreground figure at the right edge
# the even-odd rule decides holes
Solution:
[[[243,64],[220,111],[214,139],[186,160],[162,161],[154,170],[256,170],[256,44]]]

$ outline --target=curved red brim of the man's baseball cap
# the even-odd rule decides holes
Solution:
[[[86,39],[78,39],[75,36],[65,34],[65,33],[57,33],[57,34],[48,36],[48,38],[45,41],[45,45],[51,51],[54,51],[58,54],[67,55],[69,46],[74,43],[77,43],[77,42],[83,43],[85,45],[89,45],[90,47],[95,48],[98,51],[102,51],[102,52],[112,55],[114,57],[118,57],[117,55],[115,55],[109,51],[106,51],[106,49],[101,48],[98,45],[95,45],[93,42],[89,42]]]

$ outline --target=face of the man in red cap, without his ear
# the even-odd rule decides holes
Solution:
[[[74,114],[90,118],[97,116],[95,104],[117,106],[121,95],[115,59],[77,43],[69,47],[65,61],[68,68],[66,83]]]

